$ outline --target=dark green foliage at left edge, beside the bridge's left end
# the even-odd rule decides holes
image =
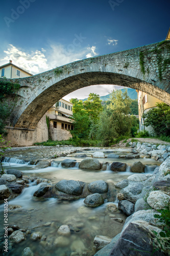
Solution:
[[[11,115],[16,104],[16,92],[20,84],[12,83],[6,78],[0,79],[0,134],[7,134],[5,130],[6,120]],[[11,97],[9,100],[9,96]]]

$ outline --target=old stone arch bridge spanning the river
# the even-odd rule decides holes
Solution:
[[[75,61],[31,77],[10,79],[20,84],[10,117],[15,129],[35,130],[59,99],[95,84],[116,84],[148,93],[170,105],[170,40]]]

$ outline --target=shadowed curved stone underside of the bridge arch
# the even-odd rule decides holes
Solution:
[[[54,103],[71,92],[95,84],[115,84],[129,87],[148,93],[170,105],[169,93],[141,79],[116,73],[87,72],[67,77],[52,84],[35,97],[21,115],[18,114],[17,116],[17,113],[15,113],[11,116],[11,122],[13,121],[15,127],[35,129],[38,121]]]

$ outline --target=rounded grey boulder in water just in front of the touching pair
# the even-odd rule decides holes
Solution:
[[[88,207],[96,207],[104,204],[104,199],[99,193],[89,195],[85,198],[84,204]]]

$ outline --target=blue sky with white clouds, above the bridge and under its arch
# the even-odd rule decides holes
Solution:
[[[6,0],[0,10],[0,66],[12,60],[32,74],[166,38],[169,0]],[[65,99],[100,96],[116,86],[93,86]]]

